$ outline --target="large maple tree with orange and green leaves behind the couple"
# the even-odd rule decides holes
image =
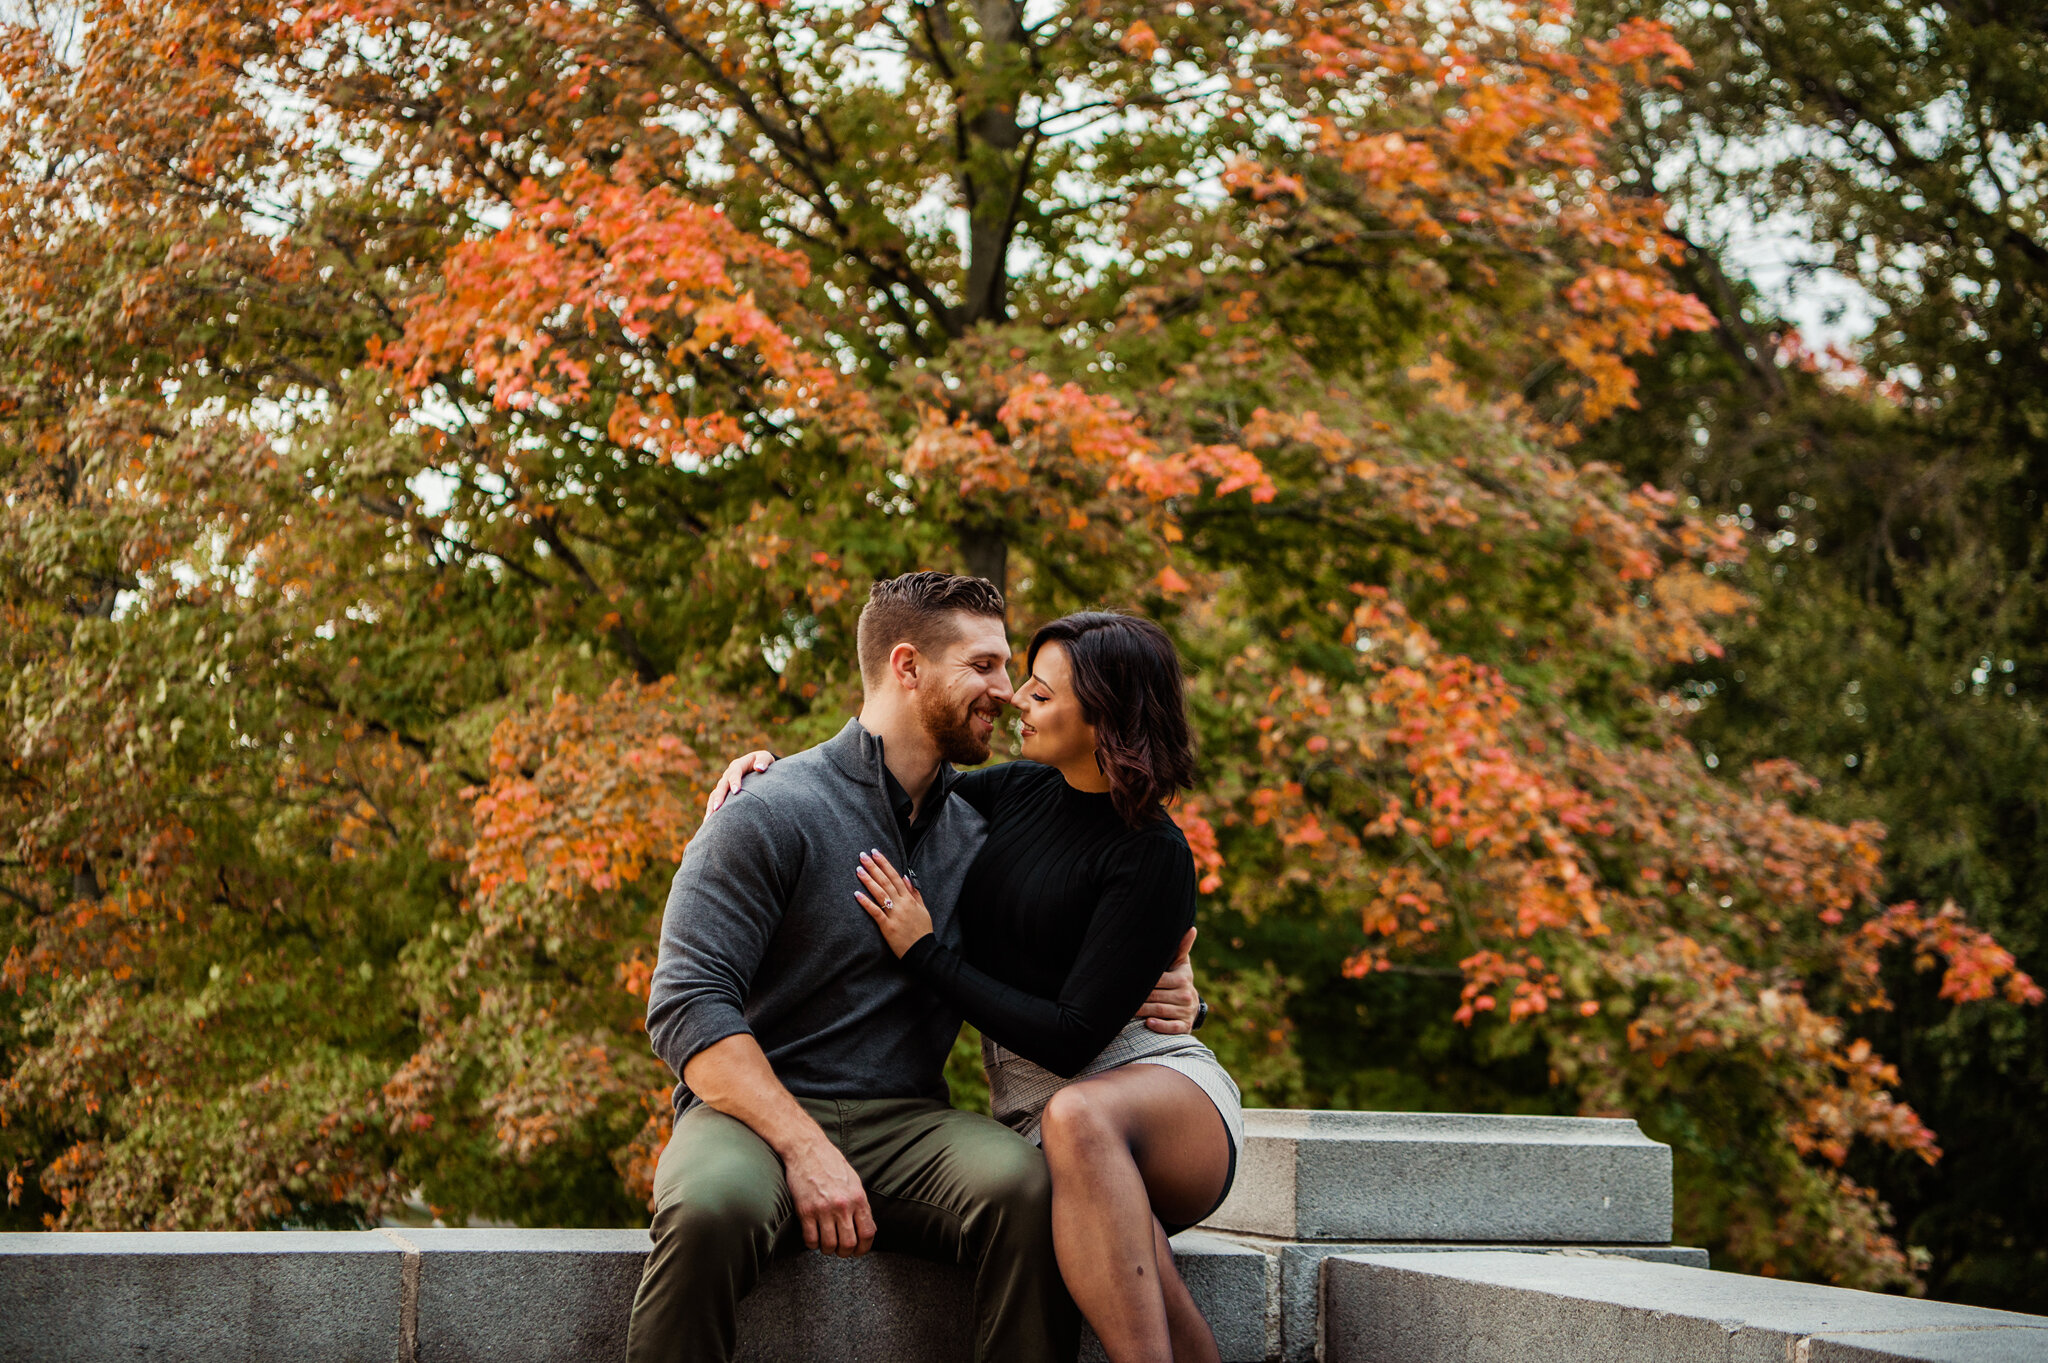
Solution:
[[[6,31],[6,1158],[66,1226],[641,1216],[717,757],[868,577],[1200,665],[1223,1048],[1360,1001],[1638,1111],[1737,1263],[1907,1281],[1845,1017],[2040,991],[1657,686],[1737,536],[1565,452],[1710,325],[1563,8],[88,4]],[[1327,999],[1331,991],[1321,991]],[[1352,1031],[1360,1019],[1352,1019]],[[1423,1103],[1456,1101],[1454,1093]],[[1839,1224],[1843,1236],[1815,1234]]]

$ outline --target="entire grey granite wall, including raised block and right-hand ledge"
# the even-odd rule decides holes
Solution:
[[[2048,1363],[2048,1318],[1716,1273],[1632,1122],[1247,1113],[1174,1240],[1225,1363]],[[0,1234],[0,1363],[614,1363],[641,1230]],[[971,1283],[778,1263],[748,1363],[965,1363]],[[1094,1338],[1083,1359],[1100,1359]]]

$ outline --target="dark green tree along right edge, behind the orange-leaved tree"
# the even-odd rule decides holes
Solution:
[[[2048,29],[1970,4],[1653,12],[1698,70],[1618,158],[1673,203],[1677,278],[1720,325],[1640,364],[1640,409],[1585,452],[1755,544],[1755,618],[1677,677],[1690,733],[1731,770],[1802,761],[1819,812],[1890,829],[1892,892],[1970,905],[2040,972]],[[2048,1310],[2048,1027],[1950,1011],[1903,962],[1890,982],[1870,1034],[1948,1158],[1860,1177],[1933,1295]]]

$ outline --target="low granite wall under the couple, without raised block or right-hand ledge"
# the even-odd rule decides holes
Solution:
[[[1225,1363],[1264,1361],[1268,1255],[1174,1252]],[[598,1363],[645,1257],[643,1230],[0,1234],[0,1363]],[[971,1295],[950,1265],[797,1255],[741,1304],[739,1357],[965,1361]]]

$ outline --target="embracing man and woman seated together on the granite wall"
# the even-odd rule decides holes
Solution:
[[[1085,1314],[1112,1363],[1214,1363],[1167,1246],[1243,1144],[1188,1036],[1180,657],[1077,614],[1012,690],[1001,593],[944,573],[874,583],[858,651],[860,718],[737,759],[670,890],[647,1034],[676,1130],[629,1359],[731,1359],[739,1298],[809,1246],[967,1265],[977,1361],[1071,1363]],[[1008,704],[1024,761],[954,772]],[[946,1103],[963,1017],[993,1122]]]

